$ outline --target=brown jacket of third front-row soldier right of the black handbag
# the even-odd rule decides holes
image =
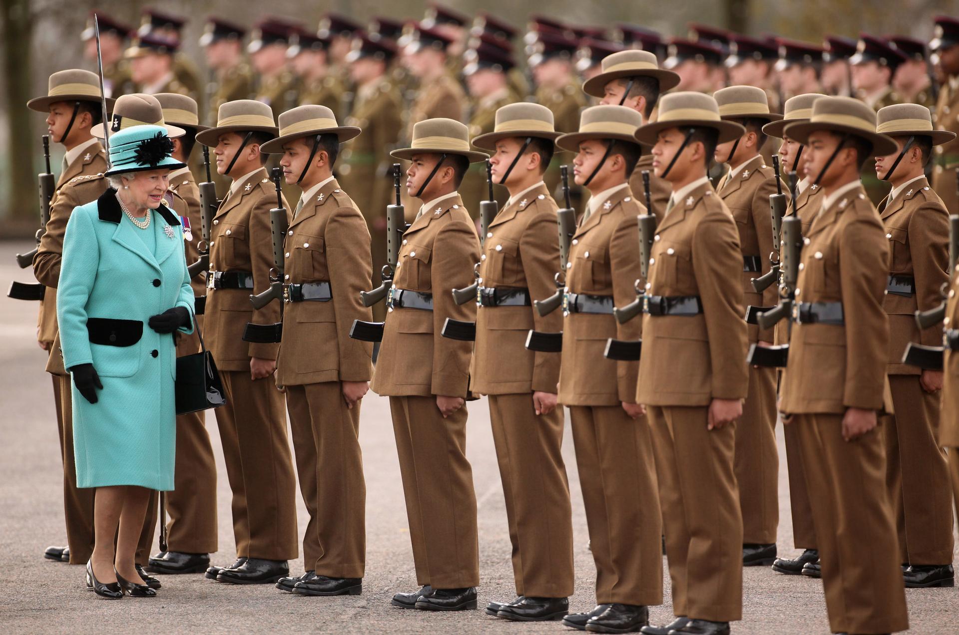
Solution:
[[[440,200],[403,236],[395,289],[433,294],[433,311],[393,309],[386,314],[371,388],[387,396],[468,394],[473,342],[440,335],[447,317],[476,319],[476,304],[457,306],[453,289],[473,283],[479,238],[458,195]]]

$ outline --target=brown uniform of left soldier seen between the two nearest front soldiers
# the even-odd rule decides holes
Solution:
[[[733,214],[739,230],[743,267],[740,276],[746,306],[774,306],[775,285],[757,294],[751,283],[769,270],[773,250],[769,197],[776,194],[776,174],[756,156],[737,174],[723,178],[716,193]],[[752,261],[752,262],[747,262]],[[759,270],[754,265],[759,265]],[[749,342],[772,344],[773,329],[747,326]],[[779,527],[779,451],[776,448],[776,369],[749,367],[749,392],[736,426],[736,481],[742,512],[742,541],[770,545]]]

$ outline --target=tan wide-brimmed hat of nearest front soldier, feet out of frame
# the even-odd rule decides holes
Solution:
[[[895,141],[876,131],[876,111],[852,97],[820,97],[812,104],[809,121],[789,124],[784,132],[805,146],[809,134],[816,130],[854,134],[865,139],[873,145],[870,156],[885,156],[899,148]]]

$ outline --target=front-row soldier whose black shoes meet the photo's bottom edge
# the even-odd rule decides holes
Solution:
[[[742,519],[734,454],[747,393],[742,249],[707,176],[745,129],[709,95],[669,93],[636,131],[672,183],[648,261],[636,401],[649,420],[676,620],[643,633],[729,633],[742,618]]]

